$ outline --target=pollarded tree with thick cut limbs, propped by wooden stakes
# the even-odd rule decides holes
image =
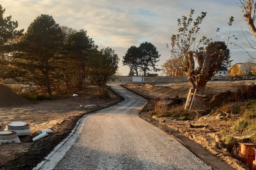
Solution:
[[[194,10],[191,9],[188,18],[183,16],[182,19],[177,20],[179,32],[171,37],[171,55],[177,59],[181,70],[188,76],[191,93],[204,95],[205,85],[221,68],[226,50],[222,49],[222,44],[215,44],[205,36],[197,41],[196,37],[200,30],[199,24],[203,21],[206,13],[202,12],[195,21],[192,18],[193,14]],[[232,21],[233,17],[230,17],[229,26],[231,26]],[[195,66],[194,58],[197,66]],[[190,106],[192,99],[193,96],[189,94],[186,106]],[[195,96],[191,105],[192,108],[201,110],[202,100],[202,97]],[[185,109],[187,108],[189,107]]]

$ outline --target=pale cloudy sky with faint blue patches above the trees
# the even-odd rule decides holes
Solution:
[[[233,0],[0,0],[6,9],[5,16],[12,15],[18,21],[18,29],[27,30],[29,24],[39,15],[52,15],[57,23],[76,30],[87,30],[99,49],[110,47],[120,58],[118,71],[128,75],[128,66],[122,59],[131,46],[151,42],[159,51],[158,68],[170,58],[172,34],[177,34],[177,18],[188,16],[190,8],[195,10],[194,18],[200,13],[207,16],[200,25],[200,37],[216,40],[216,28],[220,28],[218,40],[227,41],[229,17],[234,17],[231,35],[242,45],[243,30],[248,30],[242,12]],[[234,39],[232,39],[234,40]],[[249,57],[237,46],[229,45],[231,64],[245,62]],[[153,72],[152,72],[153,73]],[[161,74],[161,72],[158,72]]]

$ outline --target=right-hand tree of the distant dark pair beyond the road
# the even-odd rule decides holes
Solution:
[[[141,43],[139,46],[140,50],[140,70],[146,76],[146,72],[148,71],[160,71],[160,69],[156,68],[156,63],[159,61],[158,58],[161,56],[158,54],[156,47],[148,42]]]

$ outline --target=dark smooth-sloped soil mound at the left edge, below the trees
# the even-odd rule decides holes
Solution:
[[[29,103],[27,99],[17,95],[9,87],[0,84],[0,107],[20,106]]]

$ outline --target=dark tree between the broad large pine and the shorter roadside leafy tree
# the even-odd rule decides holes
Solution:
[[[88,75],[86,68],[89,52],[95,48],[97,46],[94,45],[94,41],[87,36],[87,31],[83,29],[70,34],[66,40],[65,49],[68,54],[66,60],[69,62],[65,67],[65,80],[69,77],[67,80],[75,83],[79,90],[82,90],[84,79]]]

